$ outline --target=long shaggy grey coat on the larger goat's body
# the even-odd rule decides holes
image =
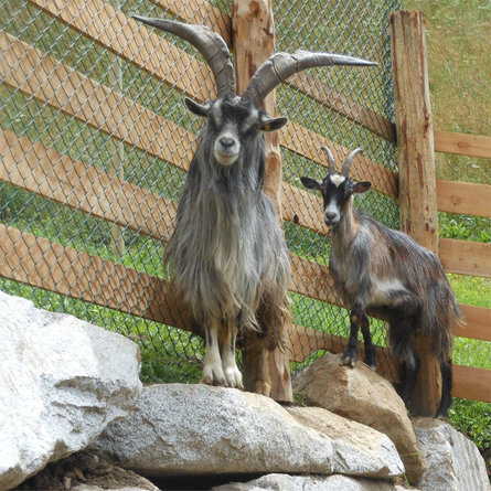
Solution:
[[[213,157],[205,125],[166,248],[175,293],[200,327],[236,324],[284,346],[290,322],[290,266],[271,201],[263,192],[264,140],[252,136],[230,167]]]

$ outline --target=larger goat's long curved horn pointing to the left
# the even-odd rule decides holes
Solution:
[[[211,31],[205,25],[184,24],[167,19],[152,19],[140,15],[131,17],[137,21],[162,29],[190,42],[203,55],[212,70],[218,97],[236,94],[235,72],[231,61],[231,52],[220,34]]]

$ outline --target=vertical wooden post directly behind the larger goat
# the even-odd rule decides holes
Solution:
[[[232,31],[237,76],[237,94],[246,88],[256,68],[275,52],[275,23],[271,0],[233,0]],[[261,108],[276,116],[276,95],[271,92]],[[281,220],[281,154],[277,132],[265,134],[266,175],[264,190],[273,201]],[[244,361],[244,363],[247,363]],[[271,397],[292,402],[289,356],[279,350],[269,356]],[[245,371],[247,373],[247,370]]]

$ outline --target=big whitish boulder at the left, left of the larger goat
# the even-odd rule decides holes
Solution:
[[[141,392],[138,346],[0,292],[0,489],[87,446]]]

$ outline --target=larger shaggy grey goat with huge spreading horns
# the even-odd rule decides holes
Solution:
[[[263,192],[263,132],[281,128],[287,119],[268,116],[260,105],[279,83],[302,70],[374,63],[330,53],[277,53],[237,96],[231,54],[218,34],[204,25],[135,19],[194,45],[217,87],[215,100],[185,99],[188,109],[206,122],[164,252],[174,295],[189,309],[193,331],[204,331],[201,382],[243,388],[235,361],[239,334],[250,360],[246,388],[269,395],[267,353],[285,349],[291,323],[290,265],[275,207]]]

